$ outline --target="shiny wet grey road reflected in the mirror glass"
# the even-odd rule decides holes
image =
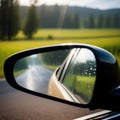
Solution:
[[[33,65],[29,66],[24,73],[16,77],[16,81],[24,88],[47,94],[48,84],[52,74],[52,70],[38,65]]]

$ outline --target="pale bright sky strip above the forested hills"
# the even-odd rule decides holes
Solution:
[[[33,0],[19,0],[20,5],[30,5]],[[71,5],[95,9],[120,8],[120,0],[38,0],[38,5]]]

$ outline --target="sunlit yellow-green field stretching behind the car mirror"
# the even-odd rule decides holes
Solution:
[[[107,49],[117,58],[120,64],[120,29],[86,29],[86,30],[39,30],[33,40],[27,40],[23,33],[14,41],[0,41],[0,77],[4,77],[5,59],[21,50],[61,43],[86,43]]]

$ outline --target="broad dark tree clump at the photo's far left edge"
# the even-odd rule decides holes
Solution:
[[[18,0],[1,0],[0,16],[0,38],[11,40],[20,30]]]

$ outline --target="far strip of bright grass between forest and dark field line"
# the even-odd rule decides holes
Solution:
[[[48,38],[51,35],[53,38],[81,38],[81,37],[108,37],[119,36],[120,29],[41,29],[34,35],[35,38]],[[25,38],[22,31],[16,36],[17,38]]]

